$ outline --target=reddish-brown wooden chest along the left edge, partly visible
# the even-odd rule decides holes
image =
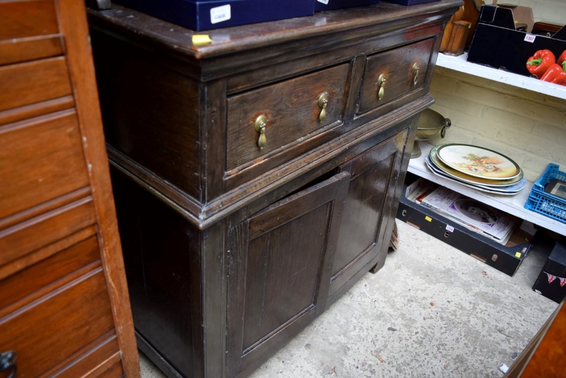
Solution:
[[[0,377],[139,377],[84,3],[0,1]]]

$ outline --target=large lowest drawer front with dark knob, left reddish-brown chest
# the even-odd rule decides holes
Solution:
[[[36,377],[113,329],[101,267],[0,318],[0,351],[18,354],[19,377]]]

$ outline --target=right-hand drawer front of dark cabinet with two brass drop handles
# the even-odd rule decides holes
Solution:
[[[379,108],[423,88],[434,38],[367,58],[358,113]]]

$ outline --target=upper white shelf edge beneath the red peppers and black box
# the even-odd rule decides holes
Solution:
[[[438,54],[436,65],[477,77],[495,80],[496,82],[509,84],[514,87],[525,88],[541,94],[566,99],[566,86],[559,86],[558,84],[543,82],[539,79],[529,78],[503,70],[496,70],[491,67],[468,62],[466,58],[468,58],[468,53],[464,53],[458,57],[440,53]]]

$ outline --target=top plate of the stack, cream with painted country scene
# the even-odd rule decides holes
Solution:
[[[513,160],[483,147],[448,143],[440,145],[436,153],[448,167],[473,177],[509,180],[521,174]]]

